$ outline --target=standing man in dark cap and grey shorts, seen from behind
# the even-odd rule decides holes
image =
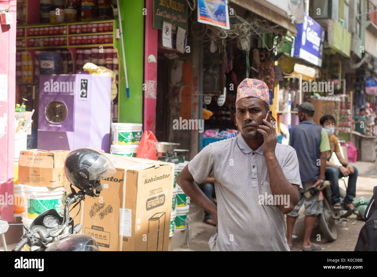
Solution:
[[[307,199],[303,193],[325,181],[326,152],[330,150],[330,143],[326,130],[314,123],[314,106],[312,104],[302,103],[298,107],[298,112],[300,124],[290,129],[290,145],[296,150],[299,159],[303,190],[299,203],[291,213],[287,214],[287,241],[292,248],[293,226],[299,216],[302,204],[305,203],[305,235],[302,250],[320,250],[322,246],[311,242],[310,236],[316,216],[322,213],[322,201],[318,201],[319,194]]]

